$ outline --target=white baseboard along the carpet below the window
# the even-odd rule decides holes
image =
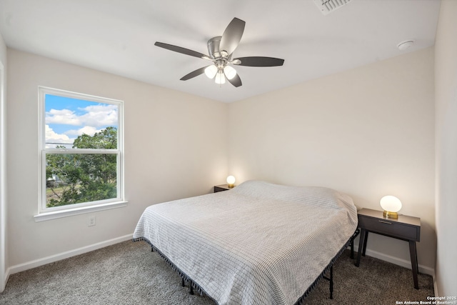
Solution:
[[[38,267],[38,266],[43,266],[43,265],[46,265],[46,264],[49,264],[49,263],[54,263],[54,261],[61,261],[62,259],[68,259],[71,256],[84,254],[86,252],[90,252],[90,251],[94,251],[94,250],[97,250],[97,249],[101,249],[101,248],[104,248],[106,246],[111,246],[113,244],[118,244],[118,243],[120,243],[122,241],[128,241],[129,239],[132,239],[133,236],[134,236],[134,234],[128,234],[128,235],[125,235],[125,236],[117,237],[115,239],[109,239],[107,241],[101,241],[101,242],[96,243],[96,244],[91,244],[89,246],[83,246],[83,247],[78,248],[78,249],[73,249],[73,250],[65,251],[65,252],[62,252],[62,253],[59,253],[59,254],[46,256],[46,257],[44,257],[42,259],[36,259],[34,261],[28,261],[28,262],[23,263],[23,264],[11,266],[6,270],[6,276],[5,276],[6,277],[6,281],[8,281],[8,278],[9,278],[9,276],[11,274],[16,274],[18,272],[25,271],[25,270],[28,270],[28,269],[32,269],[32,268],[35,268],[35,267]]]

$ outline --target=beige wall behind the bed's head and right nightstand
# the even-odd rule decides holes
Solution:
[[[229,105],[238,182],[328,186],[360,207],[392,194],[421,217],[420,270],[435,267],[433,48]],[[367,254],[410,266],[408,243],[371,234]],[[388,256],[392,256],[389,258]]]

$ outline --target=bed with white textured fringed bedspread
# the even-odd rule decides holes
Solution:
[[[350,196],[324,187],[246,181],[229,191],[154,204],[146,241],[217,304],[298,304],[357,229]]]

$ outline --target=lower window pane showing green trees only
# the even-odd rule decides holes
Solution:
[[[116,154],[46,154],[46,208],[117,197]]]

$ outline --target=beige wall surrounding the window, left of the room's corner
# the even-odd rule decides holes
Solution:
[[[9,266],[103,243],[134,231],[161,201],[206,194],[227,174],[227,104],[8,50]],[[124,101],[125,208],[35,222],[38,86]],[[90,215],[90,214],[89,214]]]

